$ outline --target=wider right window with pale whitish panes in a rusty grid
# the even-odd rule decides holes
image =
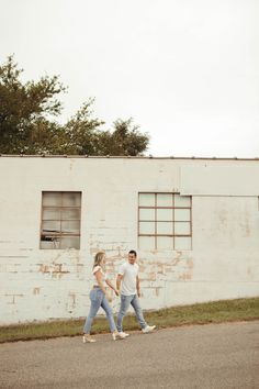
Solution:
[[[138,193],[140,249],[191,249],[191,197]]]

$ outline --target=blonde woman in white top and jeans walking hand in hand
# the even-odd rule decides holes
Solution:
[[[92,267],[92,275],[94,276],[94,285],[93,285],[93,288],[90,292],[91,307],[90,307],[90,312],[88,314],[86,323],[83,325],[83,336],[82,336],[83,343],[95,342],[95,340],[92,338],[92,336],[90,335],[90,331],[91,331],[92,321],[95,318],[100,307],[102,307],[106,313],[108,322],[109,322],[110,330],[112,333],[112,338],[114,341],[116,341],[117,338],[125,337],[124,335],[119,334],[119,332],[116,330],[116,325],[114,323],[112,309],[108,302],[108,296],[106,296],[106,289],[105,289],[104,282],[111,289],[114,290],[116,296],[119,296],[119,292],[112,286],[111,281],[108,279],[105,270],[104,270],[104,265],[105,265],[105,253],[103,253],[103,252],[97,253],[97,255],[94,257],[94,264]]]

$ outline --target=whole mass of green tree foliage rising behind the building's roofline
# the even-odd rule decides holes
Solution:
[[[92,118],[89,99],[64,125],[57,99],[66,88],[57,76],[40,81],[21,81],[13,57],[0,66],[0,153],[52,155],[142,155],[149,136],[133,120],[117,120],[114,129],[102,131],[103,121]]]

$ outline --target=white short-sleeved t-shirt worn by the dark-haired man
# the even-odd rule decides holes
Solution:
[[[126,262],[123,264],[119,270],[119,274],[123,276],[121,293],[124,296],[131,296],[137,293],[136,278],[138,275],[138,265],[130,264]]]

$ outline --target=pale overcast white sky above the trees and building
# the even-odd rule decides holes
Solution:
[[[0,63],[59,75],[67,121],[89,98],[133,118],[146,155],[259,157],[258,0],[0,0]]]

